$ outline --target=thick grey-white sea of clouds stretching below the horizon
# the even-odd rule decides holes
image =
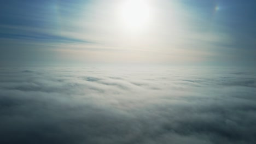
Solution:
[[[256,73],[1,68],[0,143],[256,143]]]

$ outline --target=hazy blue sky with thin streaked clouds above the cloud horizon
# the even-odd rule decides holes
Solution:
[[[142,2],[0,1],[0,62],[255,65],[255,1]]]

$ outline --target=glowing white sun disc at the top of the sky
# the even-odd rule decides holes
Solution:
[[[119,14],[126,28],[138,31],[149,23],[150,7],[147,1],[127,0],[121,4]]]

